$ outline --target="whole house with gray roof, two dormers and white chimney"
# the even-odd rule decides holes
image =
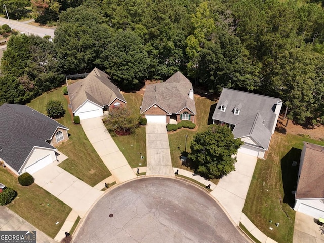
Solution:
[[[227,124],[244,144],[238,150],[264,158],[282,107],[279,98],[224,88],[213,114],[213,123]]]

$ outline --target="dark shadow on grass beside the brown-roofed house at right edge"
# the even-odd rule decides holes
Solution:
[[[295,195],[292,191],[296,191],[299,160],[302,150],[292,148],[289,152],[281,159],[281,173],[282,173],[282,184],[284,184],[284,203],[289,204],[290,207],[295,205]],[[294,161],[297,162],[296,166],[293,165]]]

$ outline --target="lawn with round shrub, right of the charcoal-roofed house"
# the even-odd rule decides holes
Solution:
[[[66,114],[57,121],[70,129],[68,130],[69,140],[57,147],[59,151],[69,157],[59,166],[90,186],[95,186],[111,176],[109,170],[89,142],[82,126],[72,122],[72,117],[68,112],[68,102],[62,94],[61,88],[44,93],[27,105],[46,114],[46,104],[50,99],[62,101]]]

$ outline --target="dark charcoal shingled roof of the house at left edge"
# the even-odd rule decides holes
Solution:
[[[58,127],[68,129],[26,105],[0,106],[0,158],[18,171],[34,146],[55,149],[45,142]]]

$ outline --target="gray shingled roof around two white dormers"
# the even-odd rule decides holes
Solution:
[[[261,147],[268,149],[273,129],[274,114],[279,98],[224,88],[214,111],[213,120],[234,124],[235,138],[251,136]],[[220,106],[226,104],[225,112]],[[240,110],[234,115],[234,109]]]

